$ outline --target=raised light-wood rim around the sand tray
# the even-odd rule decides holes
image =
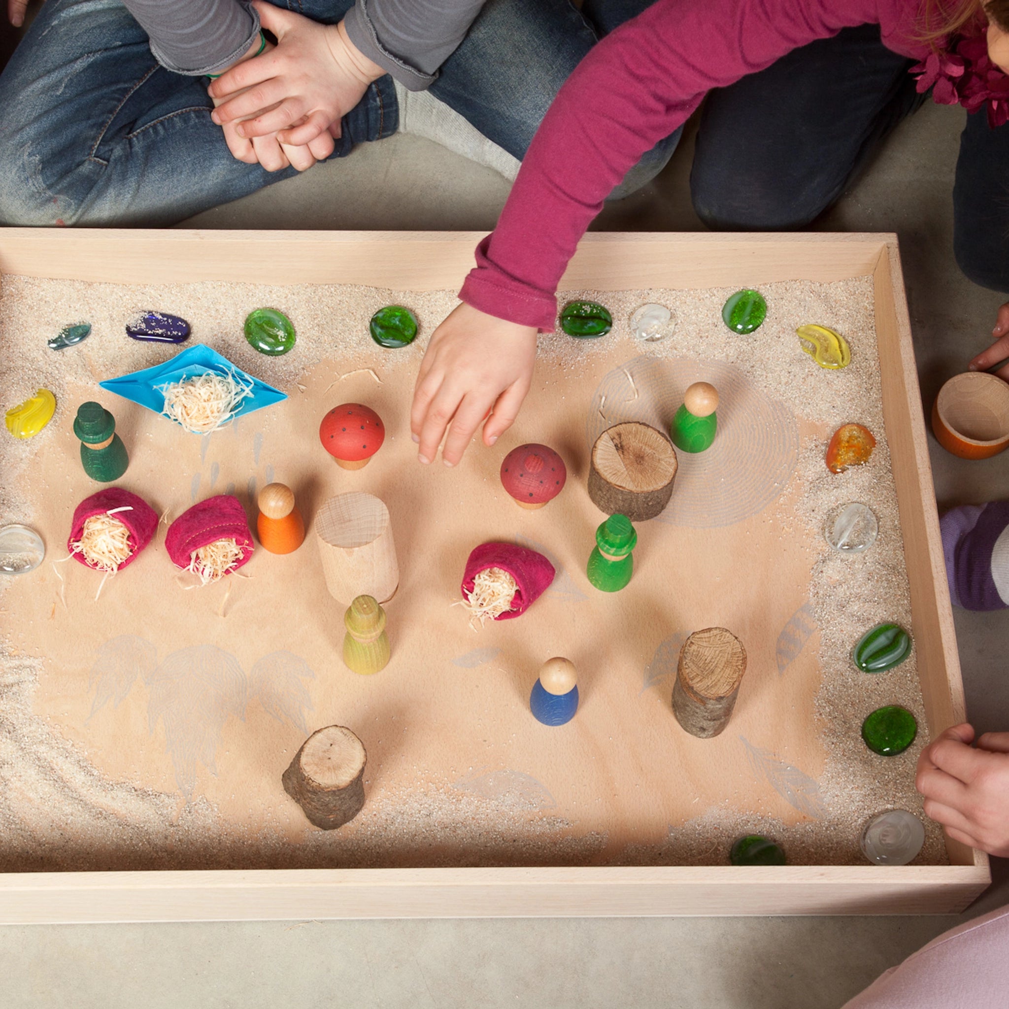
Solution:
[[[232,281],[457,287],[481,234],[0,229],[0,274],[132,284]],[[708,288],[872,275],[883,413],[933,734],[965,718],[896,235],[591,234],[562,289]],[[948,866],[325,869],[0,874],[0,922],[660,914],[923,914],[991,882]]]

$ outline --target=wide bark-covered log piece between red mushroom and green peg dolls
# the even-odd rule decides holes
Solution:
[[[606,515],[654,519],[669,503],[676,467],[676,452],[661,432],[639,421],[618,424],[592,446],[588,496]]]

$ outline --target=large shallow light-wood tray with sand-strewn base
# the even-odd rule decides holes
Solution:
[[[23,731],[22,746],[51,739],[55,749],[44,754],[51,771],[37,783],[40,794],[51,796],[51,811],[33,813],[30,830],[22,824],[20,833],[0,833],[0,863],[9,870],[0,875],[0,919],[917,913],[960,909],[987,884],[985,857],[943,845],[934,827],[930,864],[859,864],[857,851],[851,854],[857,825],[846,825],[828,806],[827,799],[840,801],[834,790],[844,777],[882,805],[891,777],[904,788],[907,775],[913,777],[908,768],[917,749],[885,770],[882,758],[855,751],[844,773],[836,768],[831,722],[847,718],[857,733],[861,708],[846,712],[839,695],[824,694],[829,677],[821,646],[830,643],[831,655],[843,643],[833,643],[828,620],[817,627],[812,615],[823,565],[840,563],[824,557],[807,519],[813,498],[806,474],[830,475],[820,446],[830,430],[822,420],[782,414],[748,372],[744,345],[726,343],[730,356],[722,359],[670,356],[672,349],[646,354],[626,335],[623,313],[623,330],[579,346],[577,355],[548,341],[519,422],[498,447],[474,445],[452,469],[417,464],[409,403],[422,340],[405,350],[378,348],[366,321],[396,292],[418,310],[423,336],[430,336],[451,307],[451,290],[478,237],[0,233],[3,298],[22,283],[8,281],[13,274],[389,289],[353,292],[346,305],[310,304],[305,289],[289,303],[279,288],[217,292],[214,304],[230,315],[205,322],[200,338],[290,399],[209,438],[125,401],[103,401],[130,450],[121,484],[169,521],[194,500],[232,488],[254,524],[258,489],[279,481],[294,490],[305,544],[288,555],[257,547],[239,573],[247,577],[228,584],[193,590],[178,584],[163,528],[135,564],[108,579],[97,601],[95,572],[52,566],[63,556],[61,538],[75,504],[95,487],[79,462],[70,408],[96,399],[96,374],[111,377],[95,348],[99,339],[120,338],[115,313],[108,313],[107,335],[96,326],[95,356],[83,371],[70,371],[70,358],[48,351],[37,361],[22,358],[17,381],[44,384],[48,369],[51,384],[62,385],[54,420],[34,447],[24,443],[25,462],[15,470],[17,493],[30,508],[30,515],[23,509],[19,515],[42,533],[48,555],[3,596],[5,654],[37,673],[23,696],[38,727]],[[866,689],[882,691],[880,697],[902,691],[920,712],[925,739],[962,719],[964,710],[894,240],[593,235],[565,287],[594,292],[623,310],[618,293],[625,290],[665,289],[690,298],[693,288],[860,276],[871,277],[864,289],[874,309],[868,321],[859,316],[868,330],[859,339],[871,340],[875,325],[879,347],[878,367],[865,364],[882,383],[882,413],[877,402],[873,417],[877,454],[892,464],[900,511],[899,522],[894,509],[893,520],[881,525],[880,542],[898,558],[903,542],[916,645],[916,663],[886,674],[890,686],[876,678]],[[829,294],[810,291],[810,305],[826,312],[829,300],[816,298]],[[773,294],[771,287],[772,309]],[[80,296],[83,311],[102,293],[80,289]],[[260,357],[243,345],[241,312],[258,307],[250,303],[257,296],[295,321],[300,343],[288,358]],[[138,294],[154,297],[153,289]],[[186,288],[162,289],[159,307],[199,325],[207,296],[189,297]],[[42,318],[44,306],[36,304],[33,315],[21,318],[3,315],[3,306],[5,341],[14,326],[31,320],[51,328],[61,311],[45,310],[52,318]],[[354,342],[340,344],[337,353],[317,351],[335,318],[341,330],[356,334]],[[682,309],[680,318],[684,345],[706,339],[710,347],[722,339],[714,329],[695,337]],[[67,321],[60,317],[60,325]],[[848,322],[854,326],[855,316]],[[767,338],[790,346],[794,325],[776,325],[769,318]],[[859,346],[854,339],[853,346]],[[87,361],[87,342],[71,349]],[[137,355],[167,356],[151,353],[126,341],[113,373],[142,366]],[[795,353],[808,362],[797,342]],[[70,374],[62,377],[64,367]],[[33,370],[22,375],[23,368]],[[803,380],[819,380],[815,365],[808,368]],[[844,373],[827,378],[843,388],[836,380]],[[753,482],[704,498],[703,456],[689,462],[681,456],[668,509],[636,527],[631,584],[598,592],[585,577],[603,518],[587,493],[591,446],[614,424],[668,430],[696,380],[711,380],[721,397],[721,442],[709,452],[758,459],[765,453],[770,475],[744,467]],[[356,471],[334,466],[319,444],[320,419],[340,403],[366,404],[386,429],[380,450]],[[782,417],[787,423],[779,423]],[[524,442],[556,449],[568,470],[564,490],[540,511],[519,509],[499,482],[501,459]],[[322,550],[337,547],[320,514],[348,492],[371,494],[387,508],[387,526],[379,521],[365,539],[391,530],[394,541],[398,577],[395,595],[383,603],[391,660],[372,676],[355,675],[340,661],[350,600],[337,601],[332,579],[339,570]],[[15,521],[17,500],[4,500],[11,512],[4,521]],[[558,573],[521,618],[474,633],[452,603],[469,551],[494,539],[545,553]],[[388,558],[372,566],[390,570]],[[906,606],[906,597],[895,605]],[[879,615],[862,600],[848,608],[867,620]],[[746,650],[732,720],[713,739],[685,733],[672,709],[680,646],[705,628],[728,629]],[[568,724],[551,727],[532,717],[529,692],[542,663],[558,655],[577,667],[580,703]],[[867,694],[866,710],[877,700]],[[329,725],[348,726],[367,762],[363,807],[324,832],[307,823],[281,777],[289,766],[297,770],[296,756],[311,733]],[[799,773],[789,779],[799,782],[798,791],[782,785],[782,769]],[[108,783],[103,820],[60,809],[75,776],[81,788],[92,779]],[[68,822],[78,824],[80,844]],[[725,865],[723,836],[749,832],[747,824],[783,831],[790,857],[802,864]],[[23,839],[32,831],[55,836],[58,829],[64,839],[48,848]],[[705,865],[704,842],[712,837],[717,844],[706,845],[712,854]],[[684,861],[691,864],[678,864]],[[231,865],[243,868],[225,868]],[[123,868],[134,872],[116,871]],[[93,871],[71,871],[77,869]]]

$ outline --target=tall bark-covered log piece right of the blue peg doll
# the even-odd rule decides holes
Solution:
[[[680,649],[673,686],[673,713],[691,735],[706,740],[728,724],[740,682],[747,671],[747,652],[724,628],[695,631]]]

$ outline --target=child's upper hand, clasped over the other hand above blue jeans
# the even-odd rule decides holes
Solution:
[[[239,137],[275,133],[281,143],[296,146],[327,137],[331,152],[340,119],[385,71],[350,41],[342,21],[318,24],[261,0],[253,6],[277,44],[210,86],[211,98],[220,101],[214,122],[235,124]]]

